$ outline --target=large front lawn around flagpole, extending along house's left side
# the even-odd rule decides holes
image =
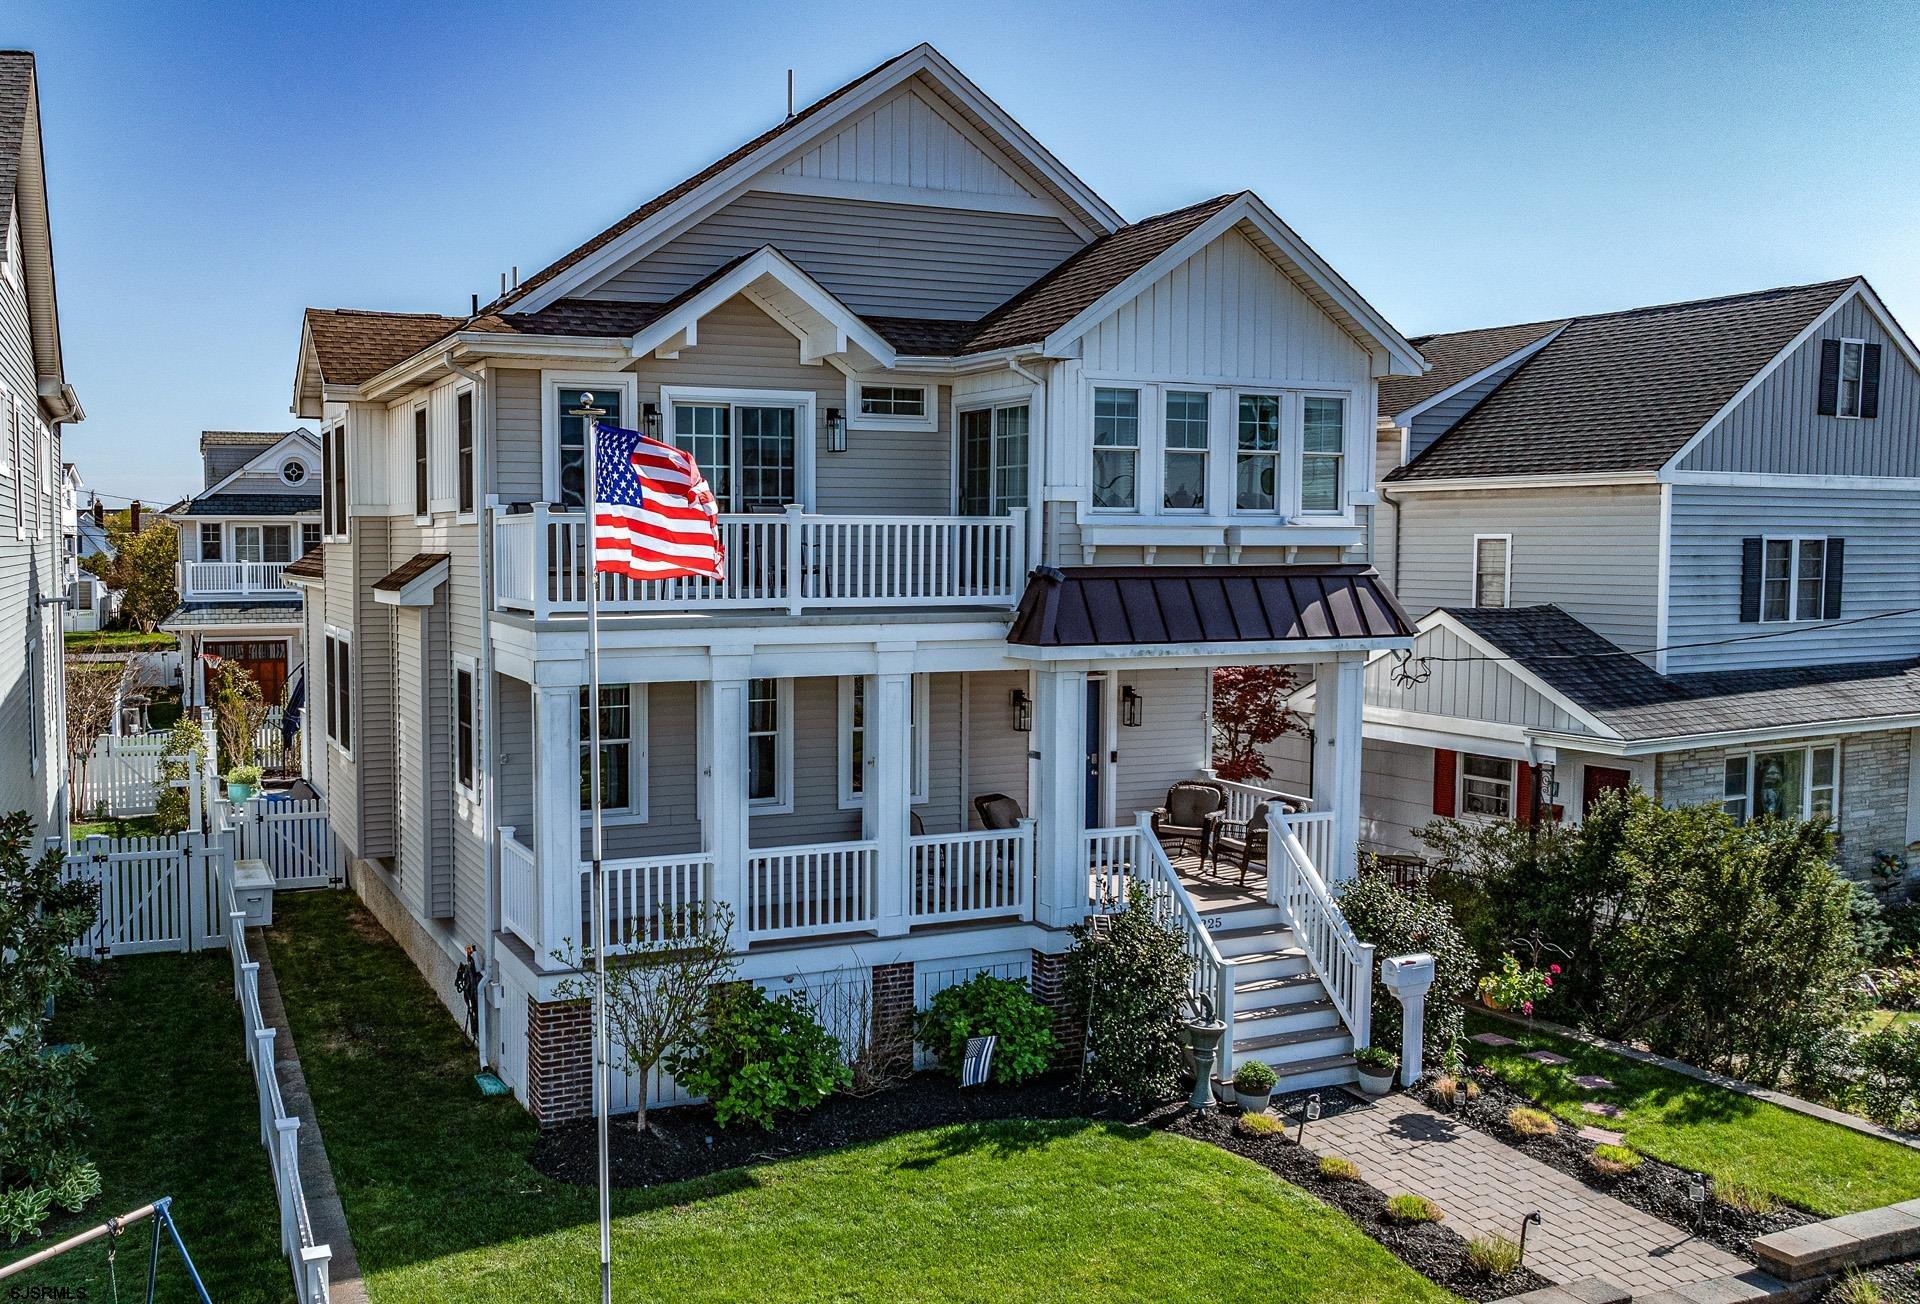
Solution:
[[[591,1298],[591,1189],[348,893],[275,903],[271,954],[376,1302]],[[941,1127],[614,1193],[616,1298],[1452,1300],[1213,1147],[1092,1122]]]

